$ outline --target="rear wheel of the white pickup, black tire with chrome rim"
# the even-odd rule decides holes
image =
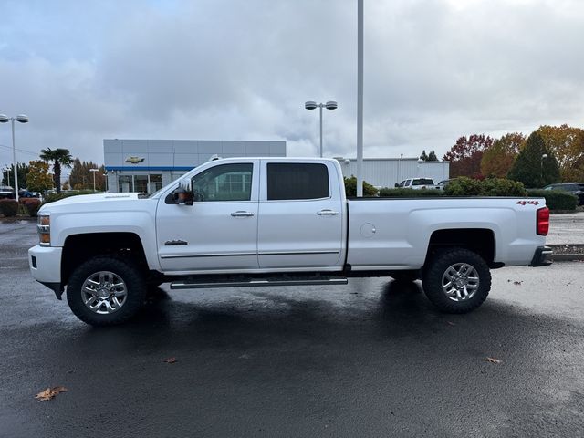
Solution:
[[[458,278],[461,273],[462,278]],[[449,281],[453,274],[456,280]],[[456,281],[460,283],[456,284]],[[481,306],[489,295],[491,272],[483,257],[473,251],[443,249],[433,255],[425,266],[422,286],[426,297],[441,311],[467,313]]]

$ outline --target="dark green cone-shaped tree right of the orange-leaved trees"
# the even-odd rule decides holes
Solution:
[[[519,152],[507,177],[530,188],[543,187],[560,180],[556,157],[547,151],[537,131],[527,138],[526,146]]]

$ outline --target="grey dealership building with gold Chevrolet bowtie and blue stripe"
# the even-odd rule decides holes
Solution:
[[[108,192],[156,192],[215,157],[286,157],[286,141],[103,141]]]

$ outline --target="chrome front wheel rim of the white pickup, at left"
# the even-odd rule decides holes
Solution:
[[[92,312],[109,315],[126,304],[128,287],[117,274],[99,271],[88,276],[83,282],[81,298]]]

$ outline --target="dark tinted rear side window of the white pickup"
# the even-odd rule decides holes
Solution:
[[[328,169],[320,163],[267,164],[267,200],[328,198]]]

